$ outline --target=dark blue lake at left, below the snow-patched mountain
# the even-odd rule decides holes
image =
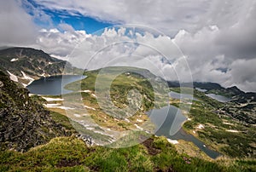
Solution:
[[[67,83],[73,83],[83,79],[84,76],[80,75],[63,75],[53,77],[42,77],[33,81],[26,87],[32,94],[37,95],[61,95],[71,93],[71,90],[64,89]]]

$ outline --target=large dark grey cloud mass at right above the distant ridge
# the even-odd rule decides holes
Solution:
[[[256,3],[225,1],[211,13],[217,17],[210,17],[207,26],[194,33],[180,31],[173,38],[189,56],[194,79],[256,91]]]

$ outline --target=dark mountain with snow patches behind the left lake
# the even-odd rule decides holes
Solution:
[[[0,70],[23,86],[39,77],[61,75],[64,68],[66,74],[79,70],[67,61],[55,59],[42,50],[21,47],[0,49]]]

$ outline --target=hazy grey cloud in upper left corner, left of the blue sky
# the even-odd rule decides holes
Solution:
[[[32,16],[21,8],[20,2],[0,1],[0,11],[0,46],[34,42],[37,26]]]

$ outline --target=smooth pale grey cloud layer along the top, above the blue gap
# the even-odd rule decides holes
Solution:
[[[153,26],[172,35],[180,29],[195,29],[197,22],[210,8],[210,3],[205,0],[120,0],[118,2],[113,0],[60,0],[55,2],[36,0],[35,2],[44,5],[47,9],[65,9],[70,14],[79,13],[98,20]]]

